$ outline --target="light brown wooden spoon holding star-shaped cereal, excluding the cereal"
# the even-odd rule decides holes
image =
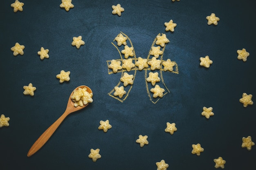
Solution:
[[[88,93],[92,93],[92,90],[88,86],[79,86],[74,89],[77,90],[78,88],[87,88]],[[77,110],[81,110],[82,108],[85,108],[88,104],[81,106],[74,106],[74,102],[71,99],[71,96],[73,95],[74,91],[71,93],[68,102],[67,102],[67,108],[63,115],[59,117],[43,134],[36,140],[36,142],[31,146],[29,149],[29,152],[27,153],[27,156],[30,157],[34,153],[36,153],[47,141],[48,139],[52,136],[52,134],[55,132],[55,130],[58,128],[58,126],[61,124],[61,122],[69,115],[70,113],[73,113]]]

